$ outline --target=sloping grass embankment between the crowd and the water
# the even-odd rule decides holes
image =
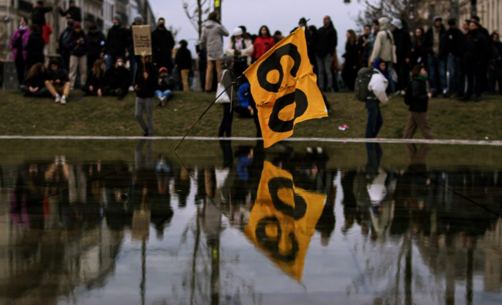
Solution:
[[[0,101],[0,134],[2,135],[143,135],[134,118],[135,94],[122,101],[116,98],[84,97],[72,91],[68,104],[56,104],[50,98],[23,97],[17,90],[2,92]],[[155,135],[183,135],[213,100],[214,94],[175,92],[166,107],[154,109]],[[329,117],[296,125],[297,137],[364,137],[366,110],[364,103],[352,93],[328,93]],[[432,99],[429,122],[436,138],[502,139],[502,97],[483,96],[481,102],[460,102],[454,99]],[[401,138],[408,120],[407,106],[401,96],[382,106],[384,126],[379,137]],[[221,105],[214,105],[195,126],[190,135],[216,136],[222,116]],[[348,130],[338,126],[346,124]],[[233,136],[255,136],[252,119],[234,116]],[[416,137],[422,137],[417,131]]]

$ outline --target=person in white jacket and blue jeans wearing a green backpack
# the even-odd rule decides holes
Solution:
[[[368,84],[369,96],[366,99],[366,109],[368,110],[368,121],[364,137],[374,138],[384,124],[384,118],[380,111],[380,103],[387,104],[389,98],[386,90],[389,81],[385,76],[386,63],[376,58],[373,62],[373,74]]]

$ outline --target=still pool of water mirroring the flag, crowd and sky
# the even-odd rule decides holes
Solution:
[[[0,141],[0,303],[502,303],[502,147],[175,144]]]

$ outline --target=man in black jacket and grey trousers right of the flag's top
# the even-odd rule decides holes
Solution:
[[[323,91],[333,91],[333,75],[331,74],[331,64],[333,54],[335,53],[338,38],[335,27],[329,16],[324,16],[323,27],[317,30],[317,39],[315,42],[315,54],[319,77],[317,85]],[[324,78],[326,75],[326,79]]]

